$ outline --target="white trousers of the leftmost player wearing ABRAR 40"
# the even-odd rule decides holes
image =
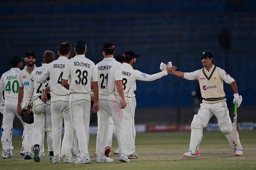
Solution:
[[[22,140],[24,137],[24,121],[22,120],[22,117],[18,115],[17,113],[17,104],[5,104],[4,110],[3,110],[3,124],[2,124],[2,136],[1,136],[1,142],[2,142],[2,148],[4,149],[4,146],[12,146],[12,129],[13,129],[13,120],[14,117],[17,116],[22,123],[23,126],[23,135]],[[7,140],[6,140],[7,139]],[[11,140],[9,140],[11,139]],[[22,147],[23,147],[23,141],[22,141]],[[8,150],[8,149],[6,149]]]

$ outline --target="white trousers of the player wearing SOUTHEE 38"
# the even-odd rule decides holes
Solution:
[[[91,115],[91,95],[72,93],[69,94],[69,109],[78,139],[80,157],[89,155],[89,124]]]

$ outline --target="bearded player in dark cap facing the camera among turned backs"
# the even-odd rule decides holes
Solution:
[[[18,75],[18,82],[19,82],[19,93],[18,93],[18,105],[17,105],[17,112],[20,115],[20,112],[23,107],[29,104],[28,99],[28,86],[30,81],[31,73],[34,69],[36,69],[36,65],[34,64],[36,57],[34,52],[26,52],[25,58],[26,66]],[[23,104],[22,104],[23,102]],[[22,107],[21,107],[22,104]],[[24,159],[31,159],[33,158],[33,154],[31,152],[32,148],[32,133],[34,129],[34,124],[27,124],[25,123],[25,136],[24,136],[24,151],[21,151],[21,155],[24,155]]]

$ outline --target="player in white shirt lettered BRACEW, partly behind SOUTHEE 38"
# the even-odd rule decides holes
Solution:
[[[64,163],[75,162],[72,159],[72,139],[74,126],[69,112],[69,91],[62,85],[62,75],[68,61],[71,44],[68,41],[61,43],[58,47],[59,58],[45,68],[44,73],[37,79],[38,83],[51,79],[51,117],[53,130],[53,163],[60,163],[61,157]],[[62,124],[64,119],[64,137],[61,146]]]

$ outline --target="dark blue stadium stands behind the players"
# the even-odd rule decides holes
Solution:
[[[198,58],[211,50],[213,64],[237,82],[243,96],[244,121],[256,121],[256,1],[255,0],[12,0],[0,6],[0,74],[10,69],[12,55],[37,55],[52,50],[58,57],[62,41],[87,42],[87,58],[102,58],[104,43],[140,54],[134,69],[159,72],[172,61],[178,70],[202,68]],[[136,123],[187,123],[192,119],[192,91],[197,81],[172,75],[153,82],[137,81]],[[232,112],[233,91],[224,85]],[[95,115],[94,115],[95,116]],[[157,117],[157,118],[156,118]],[[242,118],[240,118],[241,120]]]

